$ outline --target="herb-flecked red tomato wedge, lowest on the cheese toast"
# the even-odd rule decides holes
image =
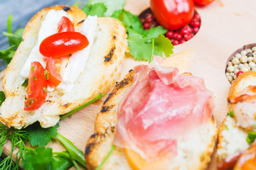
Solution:
[[[25,111],[35,111],[46,101],[47,81],[40,62],[32,62],[28,77],[28,97],[25,101]]]

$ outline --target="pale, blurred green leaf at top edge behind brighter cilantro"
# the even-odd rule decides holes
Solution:
[[[89,0],[87,3],[98,4],[103,3],[107,7],[105,16],[112,16],[112,13],[117,10],[121,10],[124,7],[125,0]],[[86,5],[86,4],[85,4]]]

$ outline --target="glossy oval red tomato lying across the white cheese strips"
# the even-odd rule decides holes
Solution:
[[[85,35],[78,32],[62,32],[44,39],[39,51],[45,57],[60,57],[82,50],[87,45],[89,42]]]

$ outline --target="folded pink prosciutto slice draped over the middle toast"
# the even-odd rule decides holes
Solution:
[[[114,145],[148,161],[173,157],[178,138],[210,119],[212,93],[203,79],[178,75],[176,68],[139,65],[134,71],[134,83],[119,104]]]

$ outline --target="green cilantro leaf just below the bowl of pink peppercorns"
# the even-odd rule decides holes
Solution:
[[[154,38],[154,55],[163,57],[163,52],[166,57],[169,57],[173,53],[174,45],[171,41],[159,34],[158,38]]]

